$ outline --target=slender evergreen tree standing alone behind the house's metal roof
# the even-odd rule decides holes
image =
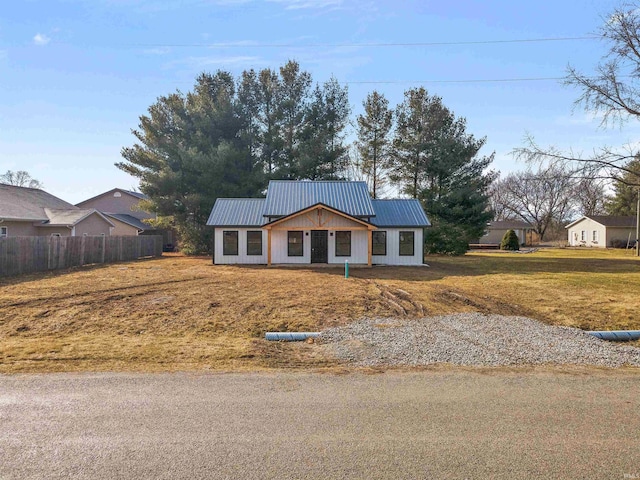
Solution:
[[[360,168],[369,182],[371,196],[378,198],[387,182],[390,166],[389,147],[393,111],[389,101],[377,91],[362,102],[364,114],[358,115],[358,153]]]

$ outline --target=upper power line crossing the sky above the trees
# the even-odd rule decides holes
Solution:
[[[142,48],[377,48],[377,47],[438,47],[455,45],[493,45],[509,43],[567,42],[577,40],[596,40],[595,35],[582,37],[521,38],[511,40],[475,40],[457,42],[379,42],[379,43],[131,43],[125,47]]]

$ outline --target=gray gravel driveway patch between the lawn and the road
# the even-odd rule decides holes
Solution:
[[[319,342],[338,359],[356,366],[640,366],[640,348],[530,318],[481,313],[365,319],[326,330]]]

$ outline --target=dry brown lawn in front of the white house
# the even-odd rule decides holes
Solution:
[[[327,368],[266,342],[363,316],[481,311],[584,329],[640,329],[630,253],[430,257],[430,267],[233,267],[176,255],[0,280],[0,372]]]

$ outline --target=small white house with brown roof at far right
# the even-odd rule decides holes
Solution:
[[[626,247],[635,245],[636,217],[584,216],[565,227],[572,247]]]

